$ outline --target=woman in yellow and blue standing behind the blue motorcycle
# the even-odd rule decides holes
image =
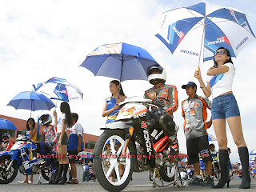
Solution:
[[[29,118],[26,121],[26,137],[30,138],[32,142],[36,142],[38,135],[38,128],[35,127],[34,118]],[[30,181],[28,181],[29,176],[25,174],[25,179],[20,184],[23,183],[33,183],[33,174],[30,175]]]

